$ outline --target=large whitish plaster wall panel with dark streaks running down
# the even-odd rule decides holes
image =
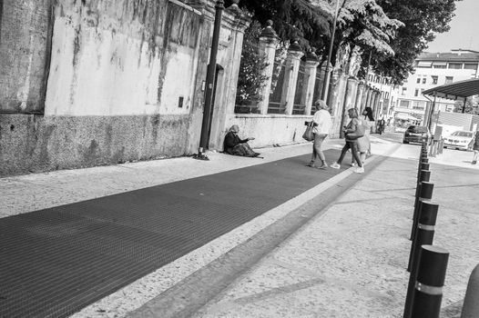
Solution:
[[[151,0],[62,2],[55,12],[46,114],[189,114],[199,15]]]

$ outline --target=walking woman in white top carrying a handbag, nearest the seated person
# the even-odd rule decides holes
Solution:
[[[307,164],[312,168],[326,169],[328,164],[326,164],[326,157],[324,156],[321,150],[321,144],[326,139],[328,134],[330,134],[331,129],[331,114],[329,112],[330,107],[321,99],[317,100],[314,103],[316,107],[316,113],[312,118],[314,122],[314,128],[312,132],[314,133],[314,142],[312,144],[312,156],[311,162]],[[321,165],[318,167],[315,165],[316,159],[320,158]]]

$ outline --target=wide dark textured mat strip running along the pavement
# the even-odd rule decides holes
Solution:
[[[0,219],[0,317],[76,313],[341,172],[306,167],[309,159]]]

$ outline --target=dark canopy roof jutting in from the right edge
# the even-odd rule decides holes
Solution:
[[[479,78],[443,84],[425,90],[423,95],[436,96],[447,99],[464,99],[479,94]]]

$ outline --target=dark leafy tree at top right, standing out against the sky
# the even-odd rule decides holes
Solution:
[[[413,62],[433,41],[434,33],[449,30],[454,16],[454,0],[376,0],[386,15],[403,22],[390,45],[394,55],[372,55],[372,68],[380,75],[392,77],[394,84],[413,73]],[[455,0],[460,1],[460,0]]]

